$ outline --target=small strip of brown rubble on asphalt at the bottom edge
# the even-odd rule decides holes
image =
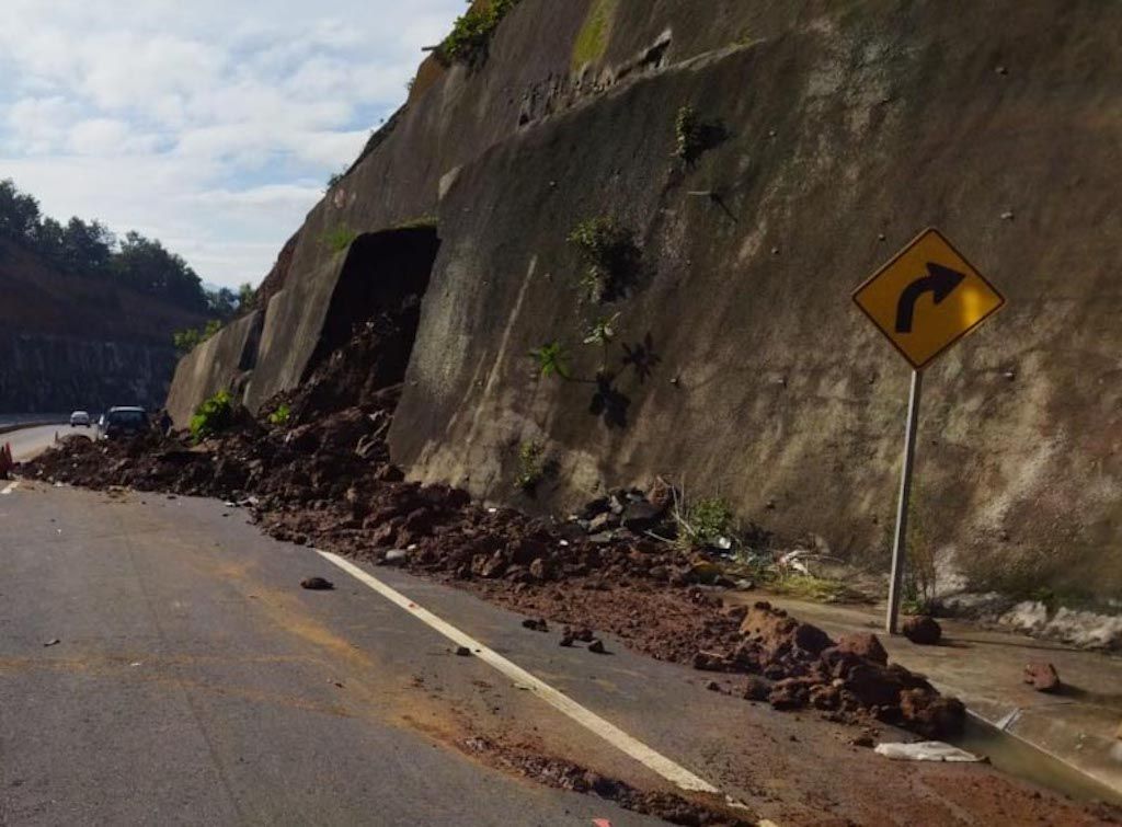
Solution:
[[[564,759],[508,746],[489,738],[462,742],[469,754],[490,765],[559,790],[570,790],[614,801],[625,810],[652,816],[669,824],[691,827],[748,827],[756,823],[745,810],[726,809],[712,801],[693,801],[673,792],[644,792]]]

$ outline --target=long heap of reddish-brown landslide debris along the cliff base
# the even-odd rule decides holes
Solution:
[[[401,566],[540,618],[542,628],[552,622],[564,627],[561,645],[580,641],[603,652],[610,633],[661,660],[745,676],[744,696],[776,709],[875,718],[928,737],[960,728],[962,704],[888,663],[874,636],[834,641],[766,603],[726,606],[721,589],[734,584],[719,567],[645,533],[665,521],[663,480],[647,494],[613,491],[567,522],[406,481],[385,441],[401,388],[379,379],[377,366],[396,359],[387,350],[407,346],[401,319],[386,314],[362,324],[259,419],[240,412],[200,444],[157,434],[72,440],[20,472],[232,500],[279,540]],[[280,404],[291,411],[287,423],[270,423]]]

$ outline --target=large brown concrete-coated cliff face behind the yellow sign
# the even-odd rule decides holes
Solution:
[[[908,368],[849,293],[935,224],[1009,303],[928,371],[923,541],[981,587],[1105,600],[1122,591],[1120,31],[1122,7],[1094,0],[524,0],[481,66],[426,64],[309,214],[247,387],[291,387],[322,353],[352,260],[325,236],[434,215],[390,433],[412,477],[517,499],[536,442],[557,472],[522,505],[663,474],[876,563]],[[712,128],[691,163],[683,107]],[[604,302],[581,297],[567,241],[596,217],[637,250]],[[605,318],[615,339],[585,344]],[[550,341],[572,379],[528,358]]]

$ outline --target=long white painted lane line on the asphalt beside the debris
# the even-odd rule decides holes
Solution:
[[[378,578],[355,566],[355,563],[349,560],[343,560],[338,554],[332,554],[329,551],[320,551],[319,549],[315,549],[315,552],[324,560],[338,566],[348,575],[361,580],[390,603],[397,604],[417,619],[429,624],[453,643],[460,646],[467,646],[476,654],[477,658],[490,664],[516,683],[527,687],[530,691],[544,700],[551,707],[564,713],[594,735],[600,736],[617,750],[631,755],[641,764],[659,773],[668,781],[671,781],[683,790],[720,793],[720,790],[705,779],[698,778],[686,768],[675,764],[665,755],[655,752],[643,742],[633,738],[623,729],[608,723],[592,710],[582,707],[572,698],[559,692],[545,681],[535,678],[522,667],[512,663],[498,652],[488,649],[482,643],[471,637],[471,635],[465,634],[460,630],[456,628],[456,626],[436,617],[436,615],[419,606],[401,591],[390,588]]]

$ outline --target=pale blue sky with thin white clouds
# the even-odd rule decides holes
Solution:
[[[0,0],[0,180],[257,284],[465,0]]]

